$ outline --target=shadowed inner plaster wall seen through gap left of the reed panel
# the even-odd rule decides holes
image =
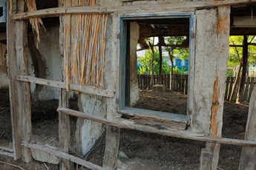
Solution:
[[[36,35],[34,35],[36,43]],[[30,41],[30,39],[28,39]],[[37,44],[36,44],[37,46]],[[38,44],[38,51],[42,55],[41,63],[38,67],[42,67],[42,64],[46,65],[45,69],[40,69],[42,78],[54,81],[62,81],[62,56],[59,52],[59,27],[48,28],[45,32],[41,31],[41,42]],[[29,75],[35,76],[35,69],[33,68],[33,62],[30,50],[28,50],[28,68]],[[45,63],[44,63],[45,62]],[[51,86],[42,86],[38,91],[35,91],[36,84],[31,84],[31,93],[33,100],[47,101],[52,99],[59,99],[59,89]]]

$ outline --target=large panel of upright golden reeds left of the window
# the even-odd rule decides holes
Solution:
[[[94,6],[95,0],[64,0],[64,6]],[[104,88],[106,14],[73,14],[63,17],[64,81]]]

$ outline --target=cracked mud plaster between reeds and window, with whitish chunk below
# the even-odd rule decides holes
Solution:
[[[113,24],[113,15],[108,17],[107,33],[106,33],[106,50],[105,50],[105,89],[116,91],[116,77],[119,76],[119,59],[116,50],[118,49],[118,18],[115,18],[115,26]],[[101,118],[113,120],[119,118],[117,113],[117,103],[115,98],[96,97],[94,95],[80,94],[79,109],[82,112],[97,115]],[[102,123],[95,123],[91,120],[78,119],[76,124],[76,149],[80,154],[87,153],[94,145],[96,140],[104,132]],[[82,153],[81,153],[82,151]]]

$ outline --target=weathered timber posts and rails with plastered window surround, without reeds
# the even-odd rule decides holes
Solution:
[[[115,0],[99,1],[96,6],[59,7],[26,12],[25,1],[7,1],[7,51],[9,59],[10,78],[10,106],[13,127],[13,149],[0,148],[1,153],[13,156],[15,160],[22,157],[24,162],[30,162],[33,157],[31,149],[53,154],[59,157],[60,169],[72,169],[72,162],[85,166],[88,169],[116,169],[116,159],[119,148],[120,129],[134,129],[151,132],[170,137],[181,137],[190,140],[206,142],[200,157],[200,169],[217,169],[220,143],[243,146],[240,160],[240,169],[255,169],[255,155],[250,154],[256,149],[255,129],[250,126],[255,123],[255,92],[252,95],[249,121],[246,126],[245,140],[221,137],[223,120],[224,84],[226,81],[226,61],[229,52],[229,35],[239,34],[230,28],[232,5],[251,4],[256,0],[220,0],[220,1],[136,1]],[[40,3],[40,2],[39,2]],[[152,5],[154,4],[154,5]],[[125,16],[165,16],[170,13],[189,13],[191,20],[190,30],[190,61],[188,115],[184,118],[166,118],[173,123],[173,129],[157,129],[152,126],[134,123],[120,118],[121,115],[165,119],[151,115],[149,112],[139,112],[122,104],[122,93],[125,75],[122,74],[122,55],[126,55],[122,48],[125,41],[122,36],[122,18]],[[50,18],[73,14],[108,14],[111,18],[111,40],[106,47],[109,52],[105,67],[115,66],[110,74],[111,82],[107,82],[105,89],[92,86],[68,84],[68,89],[85,94],[96,95],[106,100],[106,117],[91,115],[68,109],[67,86],[63,81],[36,78],[28,74],[27,68],[27,20],[29,18]],[[60,25],[63,27],[62,20]],[[109,24],[109,23],[108,23]],[[120,26],[121,25],[121,26]],[[107,26],[108,27],[108,26]],[[237,28],[239,30],[239,28]],[[232,32],[233,31],[233,32]],[[255,29],[252,29],[255,31]],[[232,33],[230,33],[232,32]],[[248,33],[250,34],[250,33]],[[255,33],[252,33],[256,35]],[[63,41],[60,29],[60,41]],[[62,44],[60,44],[60,47]],[[207,50],[205,50],[207,49]],[[111,54],[111,55],[110,55]],[[107,55],[106,55],[107,56]],[[108,57],[109,57],[108,56]],[[106,66],[110,62],[110,66]],[[204,63],[204,64],[203,64]],[[107,69],[108,70],[108,69]],[[117,73],[116,73],[117,72]],[[119,74],[120,73],[120,74]],[[113,81],[114,80],[114,81]],[[30,84],[42,84],[61,89],[59,97],[59,150],[48,146],[31,143],[31,92]],[[202,90],[203,89],[203,92]],[[70,122],[69,115],[78,118],[103,123],[106,128],[106,146],[102,167],[75,157],[69,152]],[[188,129],[177,129],[177,123]],[[251,150],[252,149],[252,150]],[[246,157],[250,159],[246,159]]]

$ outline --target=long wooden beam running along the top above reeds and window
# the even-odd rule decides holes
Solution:
[[[65,14],[93,14],[93,13],[114,13],[114,12],[122,12],[125,14],[125,11],[141,11],[144,12],[151,12],[151,11],[159,11],[169,12],[170,10],[177,10],[179,9],[182,11],[194,11],[200,8],[208,8],[208,7],[219,7],[224,5],[234,5],[234,4],[246,4],[252,3],[256,0],[222,0],[222,1],[168,1],[165,4],[137,4],[137,5],[126,5],[121,7],[113,7],[113,8],[102,8],[102,7],[55,7],[55,8],[48,8],[45,10],[36,10],[33,12],[27,13],[17,13],[13,16],[14,20],[21,20],[21,19],[28,19],[33,17],[53,17],[53,16],[60,16]],[[157,9],[157,10],[156,10]]]

